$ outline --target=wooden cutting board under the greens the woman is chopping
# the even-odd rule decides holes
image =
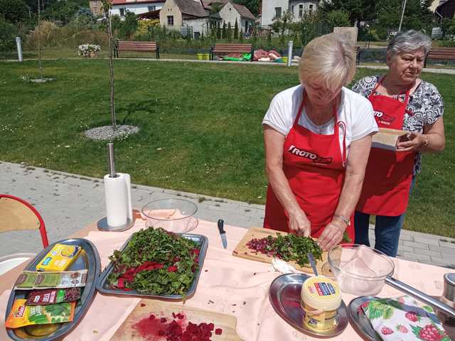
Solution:
[[[235,250],[232,251],[233,256],[237,256],[240,258],[246,258],[246,259],[251,259],[252,261],[262,261],[264,263],[272,263],[273,257],[267,256],[267,254],[261,254],[260,252],[257,252],[248,249],[247,247],[247,242],[250,242],[251,239],[261,239],[267,236],[272,236],[272,237],[277,237],[277,233],[286,235],[288,234],[287,232],[280,232],[280,231],[275,231],[274,229],[264,229],[262,227],[251,227],[248,232],[245,234],[245,237],[242,238],[239,244],[237,244],[237,247],[235,247]],[[322,253],[322,261],[321,260],[316,260],[316,268],[318,269],[319,274],[323,274],[322,271],[322,266],[327,262],[327,251],[323,251]],[[299,264],[296,264],[295,261],[288,261],[288,264],[291,264],[291,266],[294,266],[299,271],[303,271],[309,274],[314,274],[313,269],[311,269],[311,266],[299,266]]]

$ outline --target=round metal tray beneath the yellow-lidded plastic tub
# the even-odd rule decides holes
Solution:
[[[274,279],[269,288],[269,300],[277,314],[289,325],[306,335],[335,337],[348,326],[348,310],[344,301],[336,311],[336,328],[328,332],[316,332],[304,327],[304,310],[300,305],[301,286],[310,276],[306,274],[284,274]]]

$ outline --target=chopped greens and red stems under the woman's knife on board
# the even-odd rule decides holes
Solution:
[[[247,242],[247,247],[284,261],[296,261],[300,266],[309,264],[308,256],[306,256],[309,252],[315,259],[322,259],[322,249],[314,239],[297,237],[295,234],[278,233],[275,238],[267,236],[262,239],[251,239],[250,242]]]

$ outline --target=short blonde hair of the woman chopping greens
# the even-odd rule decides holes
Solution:
[[[311,40],[299,63],[300,82],[316,82],[330,90],[348,85],[355,75],[354,45],[334,33]]]

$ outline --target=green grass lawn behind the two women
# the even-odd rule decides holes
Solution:
[[[102,177],[106,144],[85,129],[109,124],[105,60],[0,63],[0,160]],[[359,69],[356,79],[374,74]],[[115,62],[119,123],[139,134],[115,142],[117,170],[134,183],[264,203],[261,121],[277,92],[298,83],[296,67]],[[424,74],[444,96],[446,150],[425,155],[405,227],[455,237],[455,80]]]

